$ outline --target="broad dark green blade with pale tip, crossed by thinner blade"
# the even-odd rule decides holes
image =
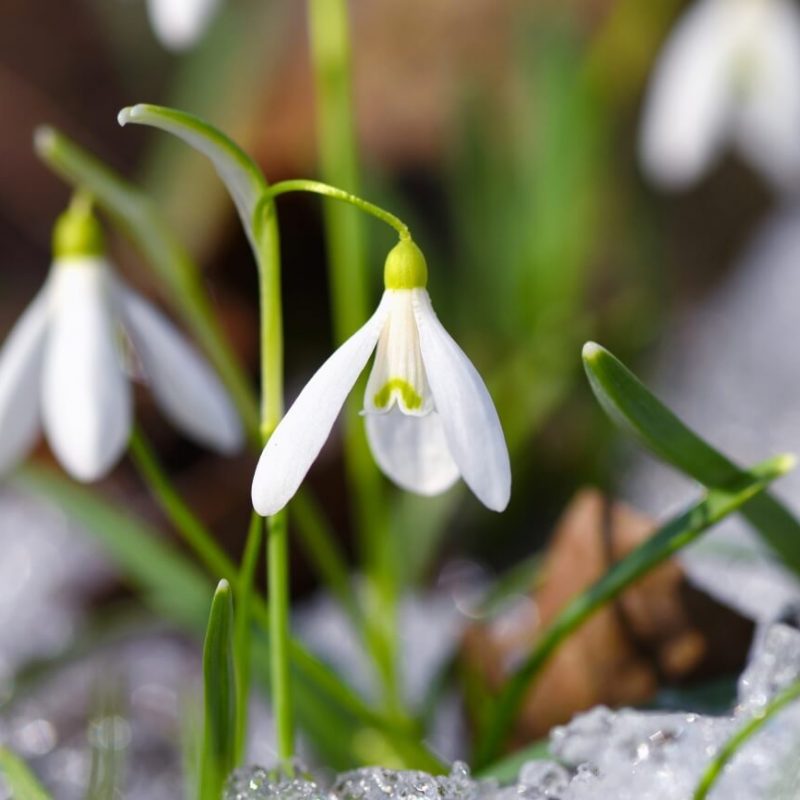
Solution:
[[[583,363],[600,405],[655,456],[709,489],[731,485],[745,474],[684,425],[639,379],[605,348],[583,348]],[[742,508],[742,515],[781,557],[800,573],[800,522],[770,493]]]

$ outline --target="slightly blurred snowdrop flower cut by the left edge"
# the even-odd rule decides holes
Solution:
[[[237,450],[241,425],[219,380],[172,323],[114,275],[85,201],[59,219],[53,245],[47,282],[0,350],[0,475],[27,455],[41,428],[74,478],[96,480],[113,467],[131,430],[123,349],[178,428],[220,452]]]

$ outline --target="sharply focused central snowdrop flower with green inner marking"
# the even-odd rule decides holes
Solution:
[[[363,416],[373,456],[398,486],[422,495],[460,477],[494,511],[511,472],[497,412],[475,367],[431,307],[425,257],[410,239],[386,259],[378,309],[319,368],[269,439],[253,506],[275,514],[297,491],[373,351]]]

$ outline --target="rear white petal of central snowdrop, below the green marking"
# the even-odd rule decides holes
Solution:
[[[386,414],[366,414],[367,440],[378,466],[400,488],[432,496],[459,478],[439,414],[404,414],[397,406]]]

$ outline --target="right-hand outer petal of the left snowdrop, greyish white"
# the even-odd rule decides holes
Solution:
[[[239,450],[239,415],[210,365],[155,306],[119,279],[115,293],[126,332],[164,414],[201,444],[221,453]]]

